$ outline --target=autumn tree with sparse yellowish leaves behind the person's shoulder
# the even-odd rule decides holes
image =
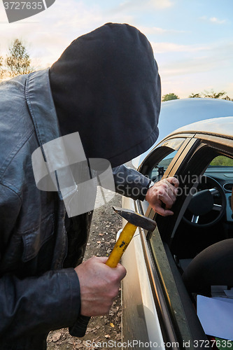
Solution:
[[[15,39],[9,47],[10,55],[6,57],[6,65],[8,66],[10,76],[19,76],[32,71],[30,67],[31,59],[26,47],[19,39]]]

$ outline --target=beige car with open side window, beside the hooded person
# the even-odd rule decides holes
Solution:
[[[206,294],[202,287],[212,275],[224,276],[229,269],[232,272],[233,262],[229,265],[226,260],[226,265],[219,267],[214,252],[209,265],[211,269],[216,265],[216,272],[209,271],[208,263],[201,267],[202,276],[190,267],[206,250],[233,241],[233,117],[209,118],[171,132],[146,155],[138,170],[154,182],[176,176],[180,186],[173,216],[162,217],[148,202],[123,197],[122,207],[157,223],[153,232],[138,228],[122,256],[127,269],[122,281],[123,346],[232,349],[232,333],[225,341],[206,334],[197,315],[197,295],[208,300],[223,296],[233,281],[232,285],[228,280],[214,281],[213,286],[207,286]],[[219,253],[224,255],[224,248],[220,247]],[[230,329],[232,332],[233,323]]]

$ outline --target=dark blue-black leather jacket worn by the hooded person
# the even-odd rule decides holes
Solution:
[[[0,349],[45,349],[50,330],[78,317],[73,267],[83,259],[92,217],[67,218],[58,193],[36,188],[31,154],[60,136],[48,70],[0,84],[0,128]],[[139,176],[145,195],[150,181],[125,166],[115,169],[118,192],[128,186],[132,195],[126,175]]]

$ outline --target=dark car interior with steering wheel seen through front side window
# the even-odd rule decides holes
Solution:
[[[205,248],[233,238],[232,175],[233,160],[219,155],[210,163],[197,188],[193,188],[192,199],[171,243],[171,252],[182,274]]]

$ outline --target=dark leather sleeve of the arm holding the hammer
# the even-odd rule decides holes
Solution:
[[[68,327],[80,311],[80,286],[74,269],[49,271],[25,279],[3,272],[4,247],[20,208],[20,197],[0,185],[0,339]]]

